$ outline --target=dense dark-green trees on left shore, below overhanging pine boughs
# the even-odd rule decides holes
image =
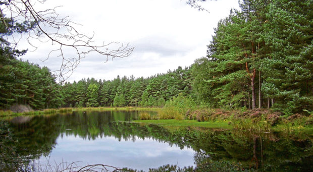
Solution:
[[[4,55],[4,54],[3,54]],[[60,85],[49,69],[29,62],[9,60],[0,54],[0,108],[28,104],[33,109],[60,107]]]

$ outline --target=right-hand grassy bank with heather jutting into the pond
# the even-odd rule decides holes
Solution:
[[[253,132],[313,132],[313,118],[293,114],[283,116],[282,113],[268,109],[225,110],[225,109],[179,109],[162,108],[157,116],[146,112],[139,114],[134,121],[142,124],[159,124],[162,126],[194,126],[206,128],[234,129]]]

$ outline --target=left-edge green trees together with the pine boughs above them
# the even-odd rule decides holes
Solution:
[[[17,60],[26,50],[17,50],[7,41],[8,35],[27,32],[35,23],[2,20],[7,25],[0,22],[0,108],[12,104],[28,104],[33,109],[60,107],[63,97],[56,77],[46,67]]]

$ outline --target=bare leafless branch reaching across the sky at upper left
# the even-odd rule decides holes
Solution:
[[[76,30],[75,26],[80,25],[75,22],[72,22],[68,17],[60,17],[56,12],[56,8],[46,9],[38,11],[34,8],[35,3],[43,4],[44,0],[11,0],[3,3],[0,9],[1,12],[1,21],[5,26],[10,29],[6,24],[6,20],[2,14],[3,10],[6,14],[9,14],[8,18],[11,18],[20,23],[27,23],[29,25],[27,31],[26,40],[28,43],[37,49],[34,45],[33,40],[39,40],[40,42],[51,42],[51,45],[58,45],[59,48],[51,50],[47,58],[43,61],[46,61],[52,55],[52,52],[58,52],[62,58],[62,65],[57,72],[59,81],[63,82],[68,79],[73,70],[77,68],[80,63],[80,60],[85,58],[89,53],[98,53],[105,56],[105,62],[109,59],[114,58],[124,58],[129,56],[134,47],[129,47],[129,44],[124,45],[119,42],[109,42],[105,43],[103,41],[100,45],[94,45],[94,33],[92,36],[87,36],[80,33]],[[13,37],[13,40],[14,37]],[[12,42],[17,45],[18,42]],[[111,48],[113,47],[113,48]],[[64,52],[66,50],[74,51],[76,55],[66,56]]]

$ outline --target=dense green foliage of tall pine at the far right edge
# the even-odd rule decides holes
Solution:
[[[275,99],[274,107],[288,115],[312,108],[312,16],[306,13],[311,8],[311,1],[279,0],[267,12],[264,35],[271,58],[263,64],[263,89]]]

